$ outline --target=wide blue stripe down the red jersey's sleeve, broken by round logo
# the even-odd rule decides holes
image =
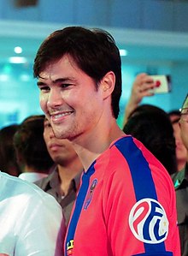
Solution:
[[[137,201],[145,198],[157,200],[156,187],[151,176],[149,164],[144,158],[142,151],[135,145],[132,137],[127,136],[117,140],[115,146],[120,150],[124,158],[126,158],[126,162],[129,165]],[[145,234],[148,233],[146,229],[148,229],[149,224],[148,226],[147,223],[145,225],[147,227],[144,230]],[[144,243],[144,248],[146,253],[152,253],[154,251],[166,252],[163,241],[156,244]]]

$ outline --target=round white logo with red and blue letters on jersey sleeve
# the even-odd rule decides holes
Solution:
[[[155,244],[167,239],[167,215],[155,199],[141,199],[133,205],[129,215],[129,226],[139,241]]]

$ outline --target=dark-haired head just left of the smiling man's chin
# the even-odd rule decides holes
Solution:
[[[23,159],[23,164],[33,171],[50,169],[53,160],[44,142],[44,115],[29,116],[19,126],[14,136],[15,151]]]

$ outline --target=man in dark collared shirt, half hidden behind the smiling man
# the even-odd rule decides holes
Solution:
[[[56,198],[68,226],[83,166],[70,141],[57,139],[47,119],[44,120],[44,141],[56,167],[48,177],[35,183]]]

